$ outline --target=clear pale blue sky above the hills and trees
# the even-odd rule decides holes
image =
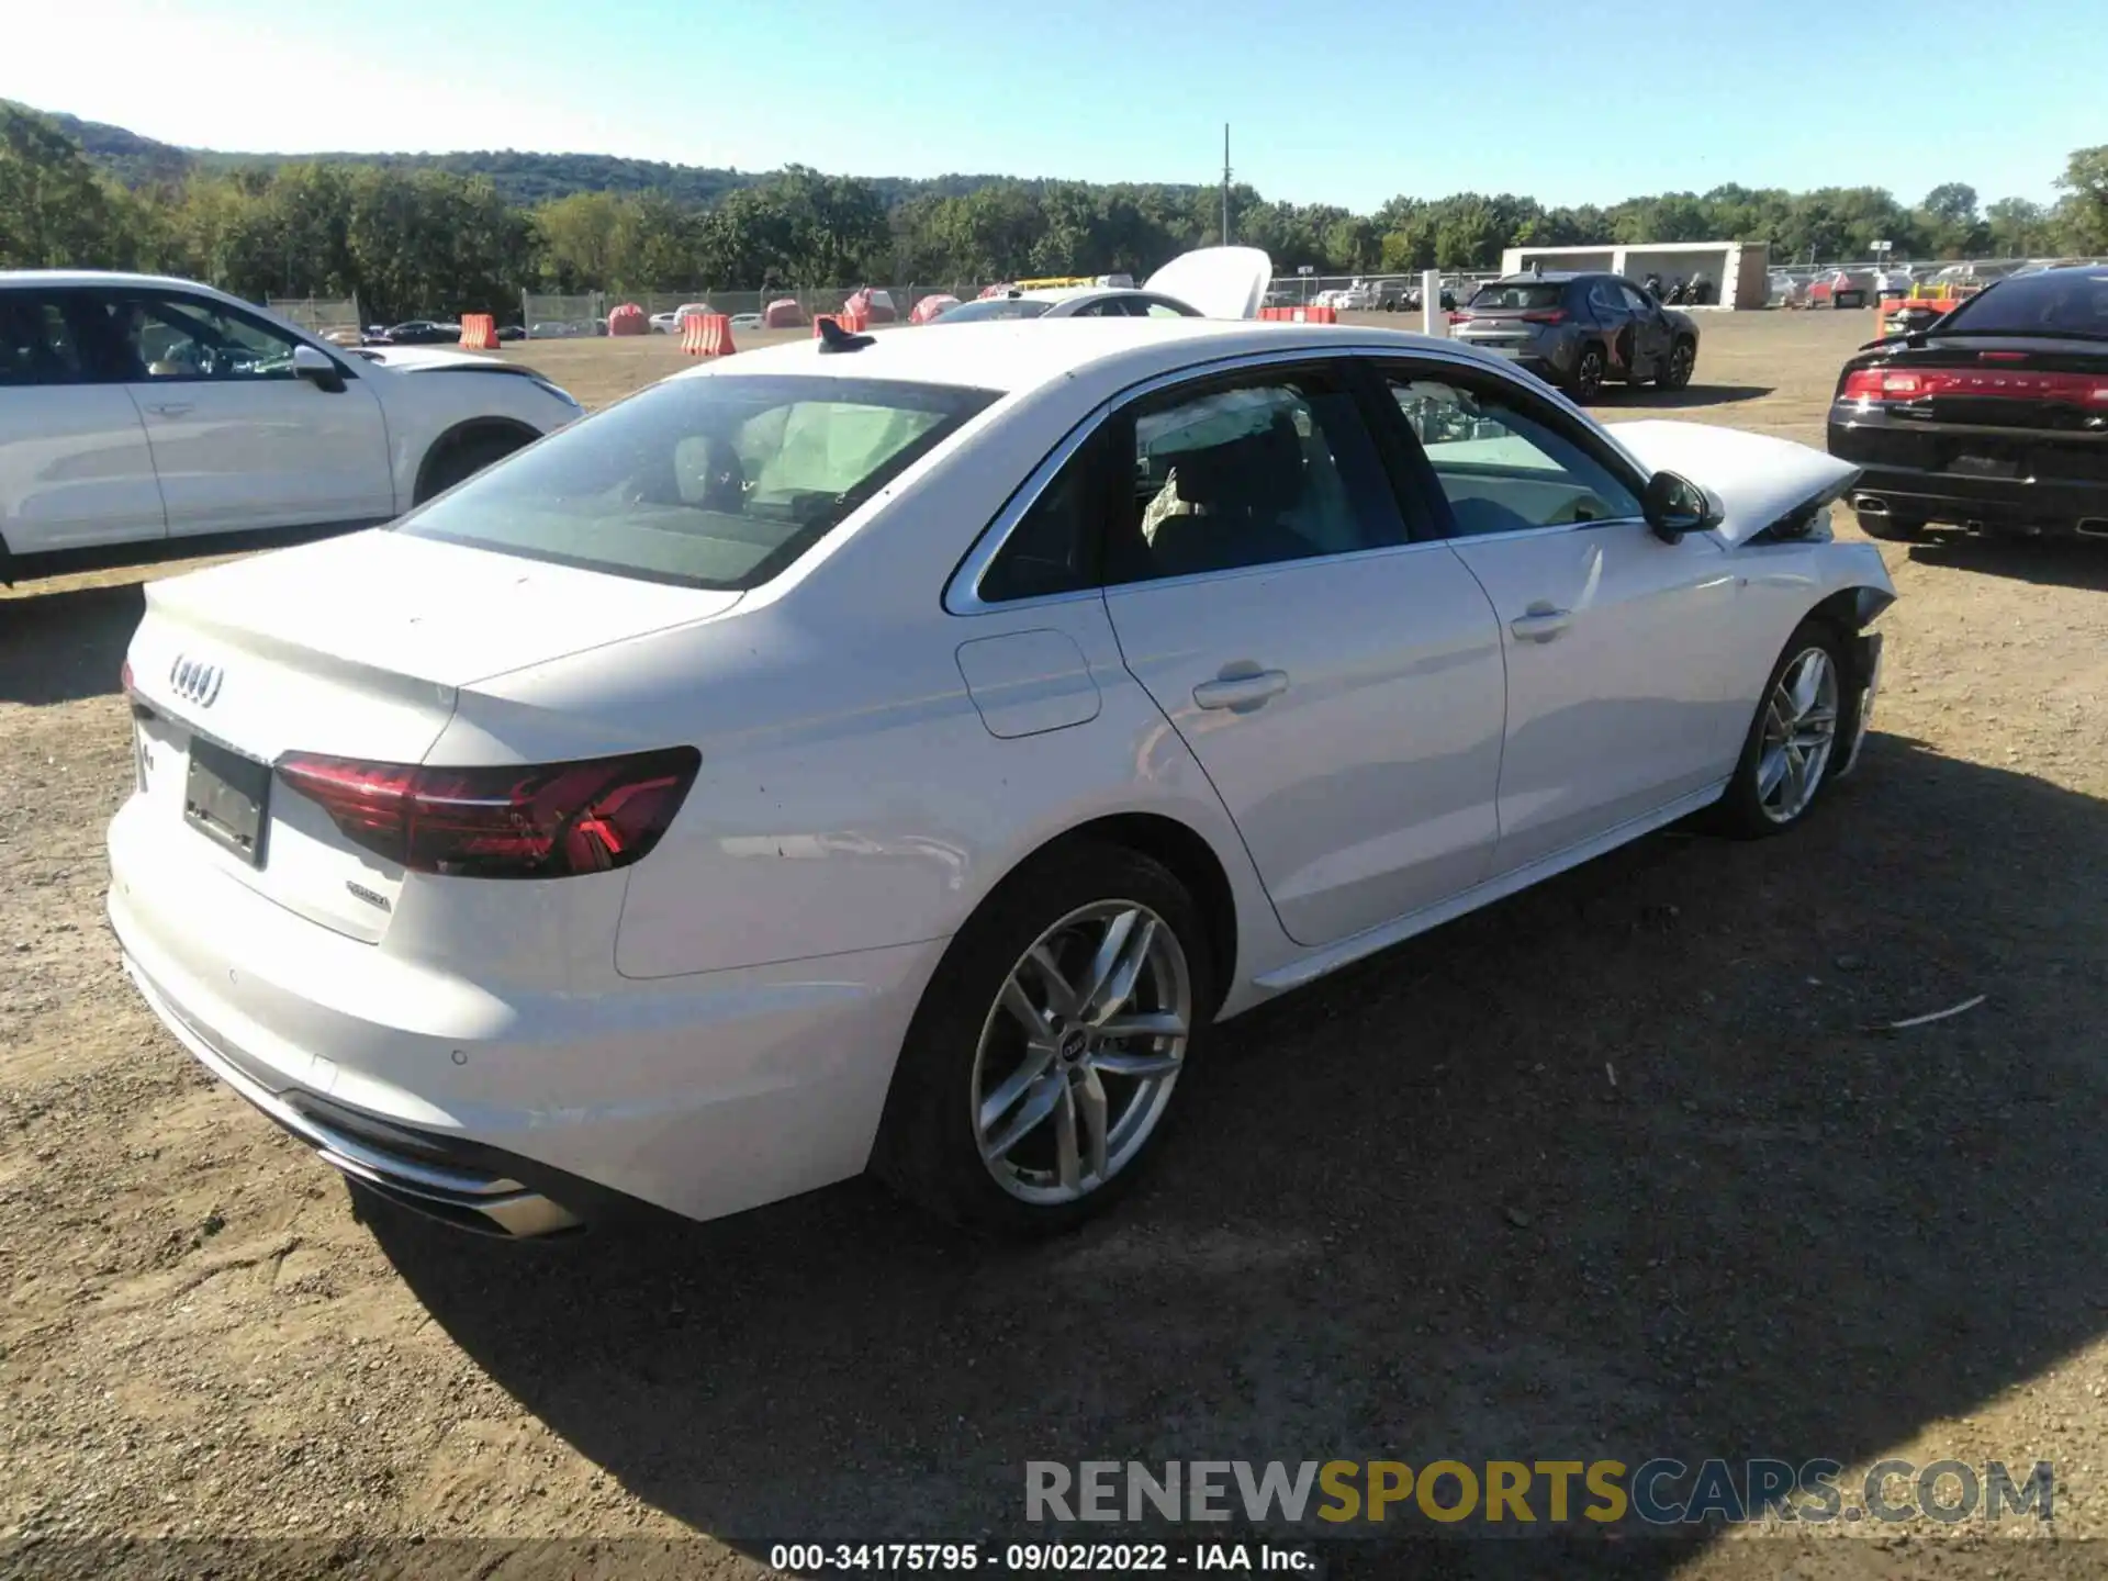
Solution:
[[[2108,141],[2108,0],[0,0],[0,97],[226,150],[1406,192],[1969,181]],[[1908,30],[1874,25],[1876,17]],[[1480,19],[1482,17],[1482,19]],[[356,25],[354,25],[356,19]],[[1885,38],[1939,40],[1880,65]]]

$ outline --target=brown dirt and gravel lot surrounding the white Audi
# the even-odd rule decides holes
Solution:
[[[1691,390],[1602,415],[1819,445],[1866,325],[1707,316]],[[594,405],[681,363],[527,356]],[[1227,1027],[1126,1210],[1035,1250],[862,1185],[552,1246],[354,1199],[118,972],[139,573],[17,588],[4,1568],[268,1537],[306,1541],[219,1573],[753,1575],[769,1537],[1008,1533],[1027,1459],[1130,1457],[2049,1459],[2057,1537],[2108,1535],[2108,550],[1887,559],[1876,736],[1809,828],[1663,833]],[[1347,1564],[2108,1573],[2102,1543],[1908,1533]]]

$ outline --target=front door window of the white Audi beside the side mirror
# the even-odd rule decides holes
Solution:
[[[1640,514],[1608,464],[1520,403],[1433,377],[1389,384],[1461,538]]]

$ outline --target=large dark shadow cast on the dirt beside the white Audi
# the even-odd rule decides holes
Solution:
[[[363,1212],[491,1379],[740,1545],[1014,1535],[1035,1459],[1851,1463],[2108,1326],[2104,885],[2100,801],[1876,736],[1790,839],[1667,831],[1221,1029],[1067,1240],[862,1185],[550,1246]],[[1556,1547],[1440,1573],[1691,1558]]]

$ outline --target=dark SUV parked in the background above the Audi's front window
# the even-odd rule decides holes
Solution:
[[[1682,390],[1699,327],[1617,274],[1509,274],[1450,314],[1450,335],[1594,401],[1606,379]]]

